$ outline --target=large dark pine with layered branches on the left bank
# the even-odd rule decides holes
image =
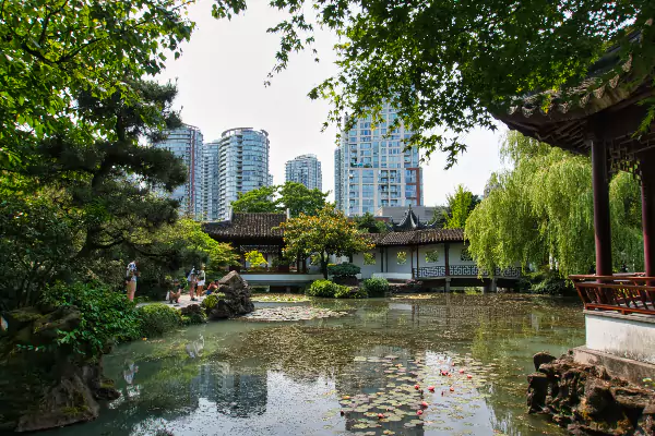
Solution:
[[[120,90],[75,98],[79,120],[111,122],[111,135],[53,133],[26,148],[19,167],[0,173],[2,304],[33,304],[56,279],[118,284],[134,257],[175,266],[180,253],[152,240],[175,225],[179,205],[154,191],[172,191],[186,169],[169,152],[139,141],[159,125],[179,125],[170,110],[176,90],[142,81],[131,86],[136,99]]]

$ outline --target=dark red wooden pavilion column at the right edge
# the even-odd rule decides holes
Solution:
[[[640,164],[645,272],[647,277],[655,277],[655,150],[644,153]]]

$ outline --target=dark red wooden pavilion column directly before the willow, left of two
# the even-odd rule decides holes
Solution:
[[[592,148],[592,182],[594,186],[594,232],[596,237],[596,275],[611,276],[611,233],[609,227],[609,174],[607,145],[587,140]]]

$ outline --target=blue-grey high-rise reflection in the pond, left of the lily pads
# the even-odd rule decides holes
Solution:
[[[243,371],[243,373],[241,373]],[[248,417],[266,411],[266,373],[259,370],[236,370],[225,362],[200,366],[200,374],[191,380],[191,395],[216,403],[219,413]]]

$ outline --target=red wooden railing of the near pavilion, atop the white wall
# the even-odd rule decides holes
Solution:
[[[569,276],[588,311],[655,315],[655,277],[643,274]]]

